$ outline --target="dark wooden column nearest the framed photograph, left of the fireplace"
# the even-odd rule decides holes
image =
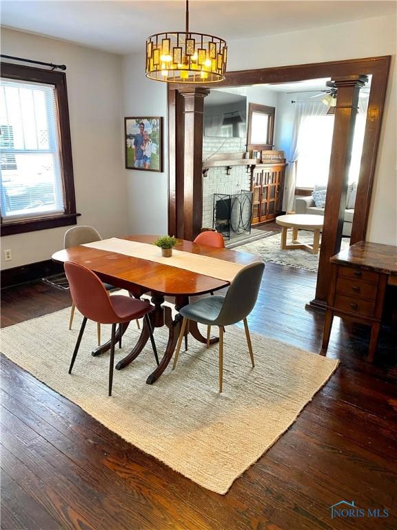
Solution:
[[[183,171],[183,190],[176,189],[183,197],[183,223],[177,222],[178,233],[183,239],[194,239],[200,233],[203,219],[203,111],[204,98],[210,92],[205,88],[190,88],[179,91],[183,98],[183,161],[179,159],[177,171]],[[177,213],[179,216],[180,213]]]

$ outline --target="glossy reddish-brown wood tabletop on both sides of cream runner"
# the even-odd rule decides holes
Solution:
[[[130,235],[119,239],[153,244],[158,237],[157,235]],[[223,259],[243,266],[258,261],[258,257],[252,254],[198,245],[185,241],[185,239],[178,239],[174,248],[177,251]],[[135,285],[143,288],[143,291],[155,291],[169,296],[201,295],[217,291],[230,284],[223,279],[182,268],[82,245],[58,251],[52,255],[52,259],[56,262],[74,262],[86,266],[98,274],[104,282],[116,287],[129,288]]]

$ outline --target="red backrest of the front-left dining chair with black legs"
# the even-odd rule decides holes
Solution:
[[[65,262],[65,273],[74,305],[82,315],[102,324],[119,322],[109,293],[95,273],[73,262]]]

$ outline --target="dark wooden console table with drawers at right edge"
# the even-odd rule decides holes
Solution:
[[[323,351],[336,315],[371,326],[368,360],[373,362],[386,288],[397,286],[397,247],[360,241],[333,256],[331,263]]]

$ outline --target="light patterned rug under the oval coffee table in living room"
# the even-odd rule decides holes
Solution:
[[[287,244],[291,243],[292,230],[288,230]],[[305,244],[313,244],[313,232],[309,230],[299,230],[298,241]],[[342,238],[340,250],[349,247],[349,237]],[[301,268],[304,271],[317,271],[320,253],[311,254],[301,248],[282,251],[280,248],[281,233],[259,239],[252,243],[238,245],[238,250],[260,256],[264,262],[273,262],[289,267]]]

